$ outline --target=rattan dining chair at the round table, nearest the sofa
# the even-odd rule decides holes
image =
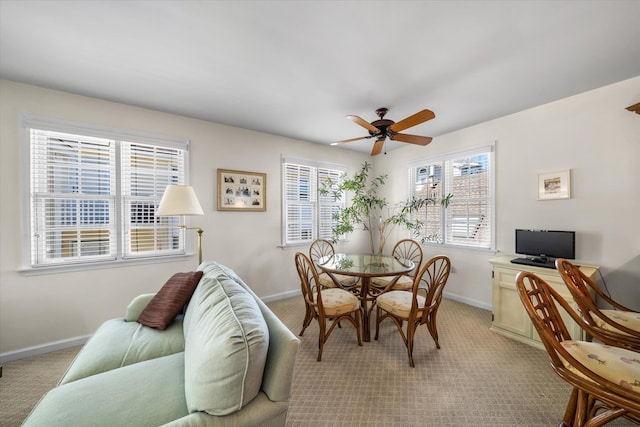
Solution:
[[[318,273],[313,262],[302,252],[295,255],[296,269],[300,276],[302,296],[306,313],[300,336],[311,324],[318,321],[320,336],[318,339],[318,362],[322,360],[324,344],[340,321],[347,320],[356,328],[358,345],[362,345],[362,314],[360,300],[351,292],[341,288],[325,288],[319,285]]]

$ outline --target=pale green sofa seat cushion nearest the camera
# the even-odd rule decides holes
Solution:
[[[181,352],[56,387],[23,426],[159,426],[187,414]]]

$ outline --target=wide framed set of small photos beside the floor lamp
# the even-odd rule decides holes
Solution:
[[[219,211],[266,211],[267,174],[218,169]]]

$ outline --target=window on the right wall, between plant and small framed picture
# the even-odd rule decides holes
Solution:
[[[452,194],[448,208],[430,205],[416,213],[420,238],[434,243],[493,248],[493,145],[423,160],[409,168],[412,197],[437,200]]]

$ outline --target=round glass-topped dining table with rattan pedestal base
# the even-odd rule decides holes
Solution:
[[[323,272],[327,273],[336,284],[339,281],[333,276],[334,274],[343,274],[346,276],[356,276],[360,278],[359,286],[347,288],[360,299],[362,310],[362,340],[371,341],[371,329],[369,326],[369,302],[373,303],[377,296],[376,292],[372,292],[371,278],[396,276],[395,280],[404,273],[413,270],[415,265],[411,260],[396,258],[387,255],[362,255],[362,254],[334,254],[319,258],[316,265]],[[390,288],[395,283],[392,280],[387,286]]]

